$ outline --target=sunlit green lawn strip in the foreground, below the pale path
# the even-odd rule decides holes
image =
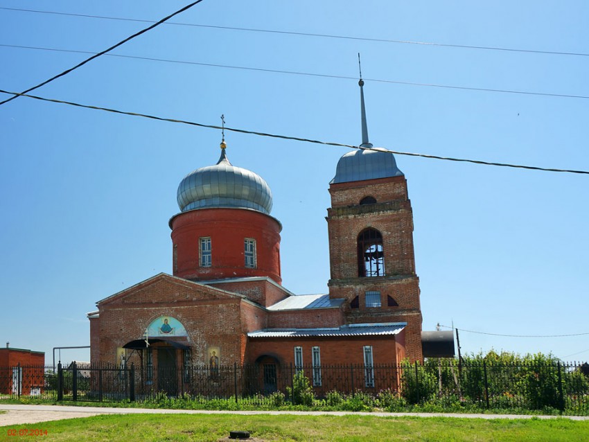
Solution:
[[[588,441],[589,421],[538,418],[382,418],[294,415],[103,415],[0,427],[47,430],[44,441],[219,441],[230,430],[249,430],[258,441]],[[39,437],[35,437],[38,440]]]

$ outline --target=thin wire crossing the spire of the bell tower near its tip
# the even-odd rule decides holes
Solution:
[[[4,47],[8,47],[8,48],[37,49],[39,51],[55,51],[55,52],[85,53],[85,54],[93,53],[90,51],[76,51],[76,50],[70,50],[70,49],[43,48],[43,47],[39,47],[39,46],[18,46],[15,44],[0,44],[0,46],[4,46]],[[326,74],[326,73],[312,73],[312,72],[302,72],[302,71],[281,71],[279,69],[264,69],[264,68],[256,68],[256,67],[234,66],[234,65],[230,65],[230,64],[213,64],[213,63],[202,63],[202,62],[189,62],[186,60],[169,60],[169,59],[165,59],[165,58],[139,57],[137,55],[121,55],[121,54],[105,54],[105,55],[107,55],[109,57],[131,58],[134,60],[148,60],[148,61],[153,61],[153,62],[193,64],[193,65],[197,65],[197,66],[220,67],[220,68],[225,68],[225,69],[241,69],[241,70],[245,70],[245,71],[283,73],[283,74],[288,74],[288,75],[311,76],[311,77],[322,77],[322,78],[337,78],[339,80],[358,80],[358,78],[355,78],[355,77],[338,76],[338,75],[331,75],[331,74]],[[589,99],[589,96],[585,96],[585,95],[550,94],[548,92],[514,91],[511,89],[489,89],[489,88],[484,88],[484,87],[438,85],[435,83],[417,83],[417,82],[408,82],[408,81],[400,81],[400,80],[383,80],[380,78],[364,78],[363,80],[369,81],[369,82],[371,81],[371,82],[380,82],[380,83],[391,83],[391,84],[395,84],[395,85],[439,87],[439,88],[443,88],[443,89],[460,89],[460,90],[465,90],[465,91],[498,92],[498,93],[502,93],[502,94],[521,94],[521,95],[548,96],[548,97],[559,97],[559,98],[583,98],[585,100]],[[26,92],[24,92],[24,93],[26,93]],[[2,104],[2,103],[0,103],[0,104]]]

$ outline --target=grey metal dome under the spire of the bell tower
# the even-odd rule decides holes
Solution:
[[[335,177],[330,184],[399,177],[401,175],[403,172],[398,169],[392,153],[360,149],[344,154],[340,161],[337,161]]]

